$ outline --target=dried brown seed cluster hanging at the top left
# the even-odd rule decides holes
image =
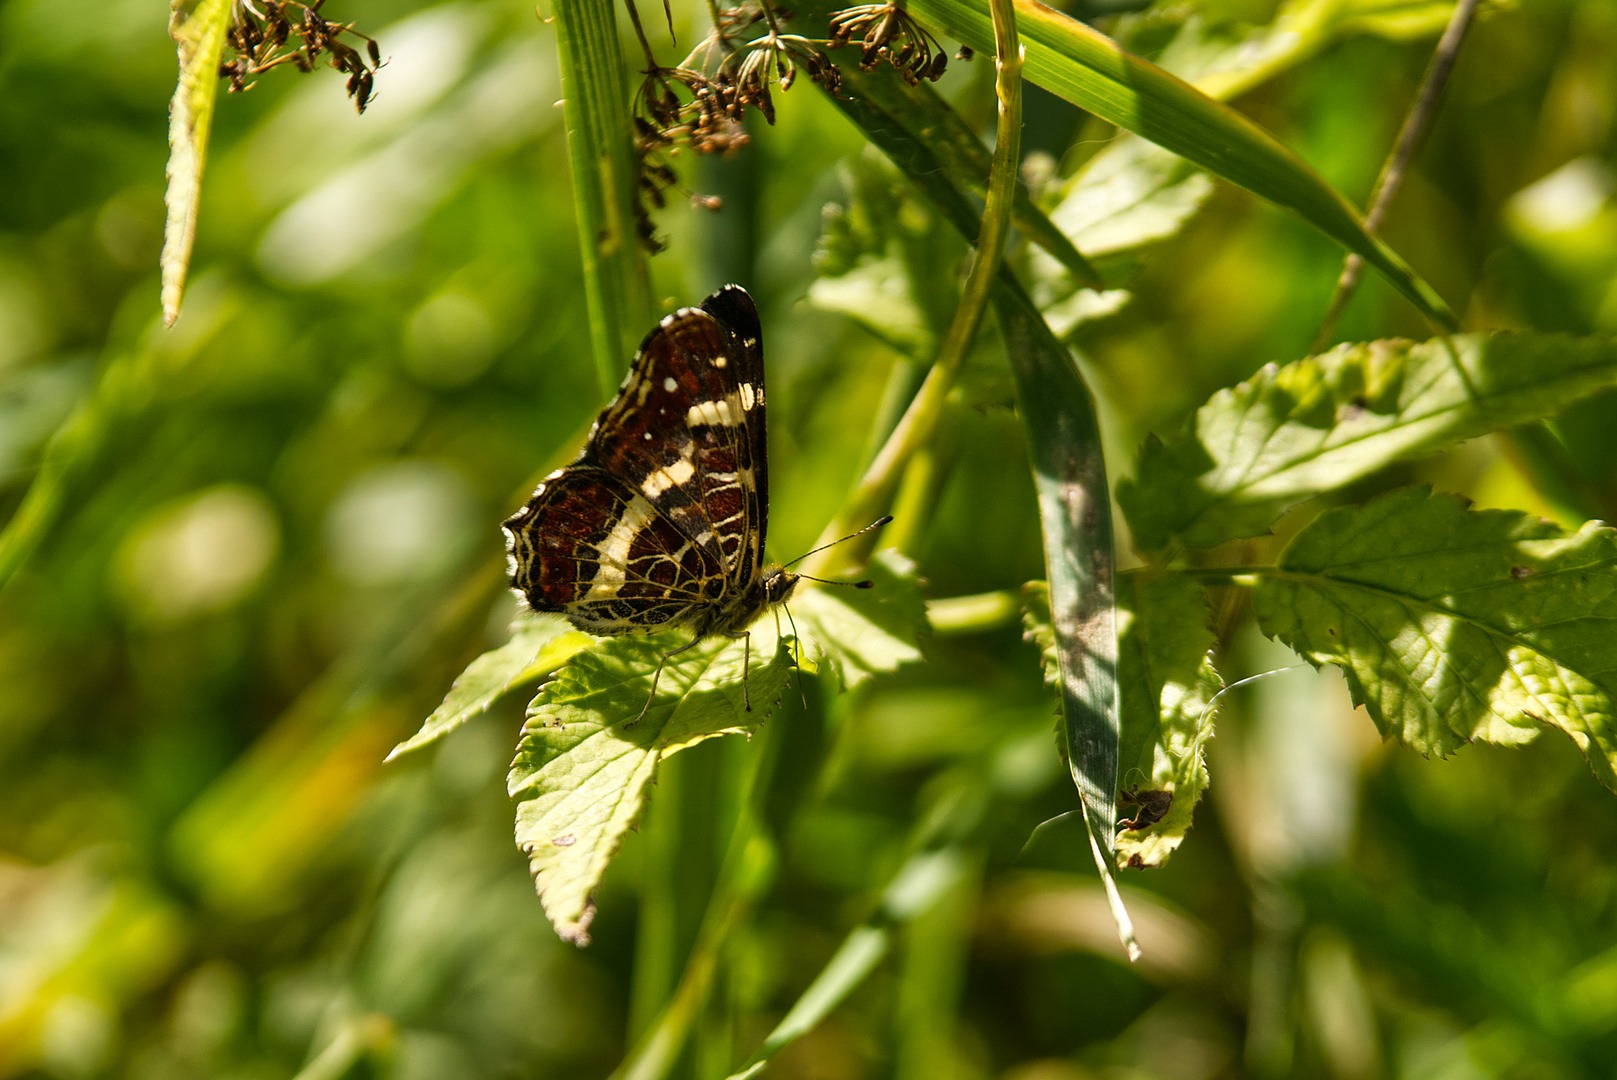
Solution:
[[[236,55],[218,65],[220,78],[230,79],[231,94],[252,89],[249,79],[270,68],[291,65],[304,73],[314,71],[323,55],[327,63],[348,74],[348,95],[359,112],[365,112],[375,73],[383,65],[382,50],[374,37],[356,31],[351,23],[323,18],[323,5],[325,0],[236,0],[225,36],[225,44]],[[344,34],[362,39],[365,52],[343,42]]]

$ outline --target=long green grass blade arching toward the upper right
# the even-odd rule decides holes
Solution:
[[[986,5],[912,0],[909,10],[972,49],[991,47]],[[1331,184],[1268,131],[1036,0],[1019,0],[1017,19],[1027,45],[1028,81],[1295,212],[1376,267],[1438,325],[1457,325],[1442,297],[1365,230],[1358,212]]]

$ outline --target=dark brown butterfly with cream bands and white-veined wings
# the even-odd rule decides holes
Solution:
[[[665,317],[577,461],[505,522],[511,587],[534,611],[564,614],[589,634],[689,631],[692,640],[658,663],[653,698],[663,664],[715,634],[747,640],[745,671],[747,627],[800,580],[763,563],[765,419],[762,330],[747,291],[726,285]],[[742,694],[750,710],[745,682]]]

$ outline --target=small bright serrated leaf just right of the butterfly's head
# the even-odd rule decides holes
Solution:
[[[915,564],[897,551],[876,551],[867,577],[873,589],[807,589],[791,605],[808,658],[844,687],[920,660],[915,635],[927,624],[927,603]]]

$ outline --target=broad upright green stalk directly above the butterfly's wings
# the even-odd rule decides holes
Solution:
[[[595,375],[611,398],[652,315],[634,220],[627,68],[611,0],[556,0],[555,26]]]

